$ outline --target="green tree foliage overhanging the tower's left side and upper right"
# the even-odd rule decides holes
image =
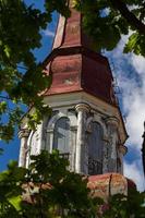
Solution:
[[[144,0],[72,0],[73,7],[84,14],[86,33],[94,39],[97,51],[113,49],[121,38],[130,38],[124,52],[145,56],[145,1]],[[70,15],[68,0],[45,0],[45,11],[27,7],[24,0],[0,0],[0,137],[13,137],[14,125],[24,114],[21,104],[35,108],[28,114],[29,126],[49,113],[41,93],[51,83],[51,76],[43,73],[33,49],[41,47],[40,29],[51,22],[53,11]],[[8,100],[12,101],[9,108]],[[7,116],[3,121],[3,116]]]

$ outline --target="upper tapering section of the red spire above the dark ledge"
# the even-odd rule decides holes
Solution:
[[[52,49],[76,46],[90,48],[90,40],[88,40],[86,34],[83,33],[83,16],[78,11],[73,9],[72,4],[72,0],[69,0],[71,16],[69,19],[65,19],[60,15],[59,17]]]

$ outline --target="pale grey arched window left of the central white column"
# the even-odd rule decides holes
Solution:
[[[55,124],[52,148],[58,149],[61,155],[69,156],[70,141],[70,120],[62,117]]]

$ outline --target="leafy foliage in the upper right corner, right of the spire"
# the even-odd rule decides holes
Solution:
[[[75,1],[84,14],[84,28],[93,37],[96,49],[112,50],[121,35],[131,34],[124,52],[145,56],[145,1],[94,0]]]

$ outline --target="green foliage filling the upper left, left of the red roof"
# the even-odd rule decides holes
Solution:
[[[34,106],[43,113],[43,98],[38,93],[49,87],[50,78],[41,73],[33,49],[39,48],[40,28],[45,28],[51,16],[27,7],[21,0],[0,0],[0,136],[9,141],[14,124],[23,113],[20,102]],[[11,100],[11,108],[9,102]],[[2,116],[7,114],[3,121]],[[37,112],[38,114],[38,112]]]

